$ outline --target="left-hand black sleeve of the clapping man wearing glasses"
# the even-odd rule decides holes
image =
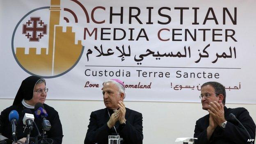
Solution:
[[[199,121],[196,122],[196,126],[194,129],[194,137],[195,139],[195,144],[208,144],[209,141],[207,139],[207,130],[200,128],[201,124]]]

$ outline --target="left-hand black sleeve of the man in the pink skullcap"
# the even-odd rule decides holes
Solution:
[[[107,142],[108,135],[110,134],[110,128],[108,128],[107,123],[103,126],[98,127],[97,117],[94,112],[91,112],[90,122],[88,125],[88,130],[85,136],[85,144],[95,144],[95,143],[105,143]]]

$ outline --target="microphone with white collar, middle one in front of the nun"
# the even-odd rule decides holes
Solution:
[[[22,111],[22,114],[24,115],[23,117],[23,124],[27,125],[27,127],[32,131],[34,126],[33,126],[33,121],[34,121],[34,115],[32,114],[31,110],[26,108]]]

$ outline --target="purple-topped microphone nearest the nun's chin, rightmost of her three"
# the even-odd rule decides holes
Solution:
[[[46,110],[44,109],[43,104],[37,103],[35,105],[35,110],[36,110],[35,111],[36,117],[43,121],[42,122],[43,130],[49,131],[52,126],[50,125],[50,121],[46,119],[48,114],[47,114]]]

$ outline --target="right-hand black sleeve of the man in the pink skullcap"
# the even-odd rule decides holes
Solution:
[[[126,121],[126,125],[120,131],[120,137],[122,137],[126,144],[142,144],[142,114],[138,113],[134,117],[134,122],[131,124]]]

